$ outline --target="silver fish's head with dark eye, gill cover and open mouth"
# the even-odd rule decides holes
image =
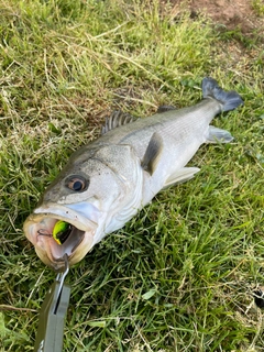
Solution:
[[[81,148],[72,156],[24,222],[24,233],[45,264],[61,270],[67,254],[73,265],[103,238],[133,198],[139,164],[129,146]]]

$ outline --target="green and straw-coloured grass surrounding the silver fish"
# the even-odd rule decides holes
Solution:
[[[112,109],[190,106],[210,75],[243,108],[201,172],[162,191],[75,265],[64,351],[263,351],[263,45],[150,1],[4,1],[0,65],[0,350],[33,351],[54,273],[22,224]]]

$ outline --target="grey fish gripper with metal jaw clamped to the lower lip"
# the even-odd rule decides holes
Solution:
[[[40,323],[34,352],[62,352],[65,317],[68,309],[70,287],[64,283],[69,271],[68,256],[65,266],[50,288],[40,311]]]

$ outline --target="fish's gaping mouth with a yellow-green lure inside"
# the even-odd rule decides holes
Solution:
[[[51,211],[53,210],[53,211]],[[35,246],[40,258],[55,270],[79,262],[94,243],[97,223],[68,208],[35,209],[24,222],[24,233]]]

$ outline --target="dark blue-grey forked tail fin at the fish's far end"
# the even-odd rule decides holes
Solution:
[[[233,110],[243,105],[243,100],[237,91],[224,91],[213,78],[204,78],[201,89],[204,98],[215,98],[222,103],[222,111]]]

